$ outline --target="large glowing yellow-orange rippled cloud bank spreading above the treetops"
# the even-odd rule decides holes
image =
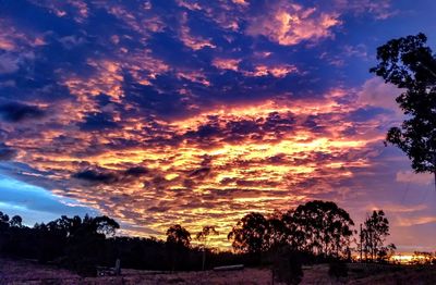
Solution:
[[[116,72],[117,65],[106,70]],[[344,137],[347,125],[325,122],[328,119],[306,123],[314,113],[344,120],[343,109],[335,102],[341,95],[332,91],[325,99],[292,104],[267,100],[217,106],[184,120],[146,123],[131,119],[104,133],[46,131],[39,137],[10,142],[22,146],[17,160],[55,173],[52,181],[68,182],[66,189],[59,187],[56,194],[126,224],[147,225],[147,230],[135,228],[135,234],[164,233],[175,222],[190,231],[216,224],[226,233],[250,211],[284,209],[316,193],[335,191],[329,182],[352,177],[352,169],[370,166],[367,148],[380,137]],[[71,141],[60,140],[61,136]],[[144,144],[108,147],[121,138]],[[126,176],[136,166],[147,171]],[[83,179],[84,175],[72,178],[89,168],[98,171],[90,181]],[[100,178],[105,183],[98,183]],[[316,187],[307,190],[307,183],[314,181]],[[215,245],[228,243],[221,236]]]

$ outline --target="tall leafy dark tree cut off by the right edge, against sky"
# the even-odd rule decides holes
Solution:
[[[436,188],[436,55],[426,40],[424,34],[389,40],[370,72],[404,90],[396,100],[408,119],[386,140],[408,154],[415,172],[433,173]]]

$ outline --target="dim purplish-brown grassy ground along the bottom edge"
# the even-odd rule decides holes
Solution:
[[[304,269],[301,284],[436,284],[436,267],[401,267],[350,264],[349,276],[328,276],[328,265]],[[244,269],[227,272],[158,273],[122,270],[117,277],[81,277],[70,271],[34,261],[0,259],[0,284],[272,284],[267,269]],[[280,284],[276,282],[275,284]]]

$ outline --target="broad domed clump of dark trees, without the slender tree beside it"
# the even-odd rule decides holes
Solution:
[[[340,257],[347,255],[354,225],[349,213],[330,201],[310,201],[268,219],[243,216],[228,235],[237,252],[258,253],[289,247],[292,251]]]

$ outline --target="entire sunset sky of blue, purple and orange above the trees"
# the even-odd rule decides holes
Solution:
[[[436,250],[436,191],[383,141],[401,90],[376,48],[433,0],[0,0],[0,211],[108,214],[162,237],[331,200]]]

